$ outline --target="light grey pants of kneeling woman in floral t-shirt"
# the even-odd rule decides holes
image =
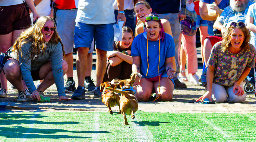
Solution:
[[[244,82],[240,84],[240,87],[244,88]],[[237,89],[235,90],[235,93],[237,92]],[[212,85],[212,99],[213,101],[216,101],[216,103],[224,103],[224,102],[230,102],[230,103],[243,103],[246,100],[246,93],[244,92],[244,95],[237,96],[233,93],[233,86],[222,86],[218,84]]]

